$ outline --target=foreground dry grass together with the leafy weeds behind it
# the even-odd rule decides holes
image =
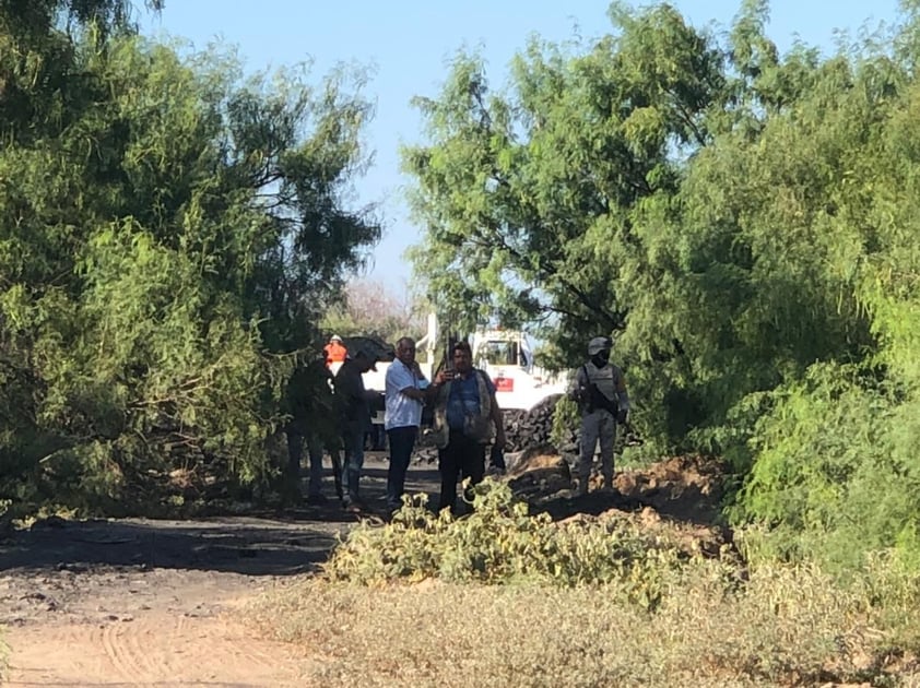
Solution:
[[[920,687],[920,576],[895,559],[846,584],[748,571],[644,514],[552,523],[481,497],[459,521],[408,505],[355,529],[252,618],[303,648],[306,685]]]

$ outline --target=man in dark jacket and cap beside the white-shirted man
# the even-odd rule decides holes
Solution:
[[[342,442],[345,450],[342,487],[344,506],[350,510],[359,510],[358,483],[364,467],[364,435],[370,429],[370,402],[378,398],[378,392],[364,388],[361,377],[368,370],[376,370],[377,354],[358,347],[345,359],[335,373],[335,399],[342,428]]]

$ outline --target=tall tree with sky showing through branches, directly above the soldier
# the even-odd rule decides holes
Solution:
[[[677,323],[663,300],[683,285],[669,274],[673,238],[651,227],[675,222],[683,159],[710,140],[723,56],[667,5],[614,17],[616,32],[581,54],[534,40],[507,93],[461,56],[439,98],[418,100],[429,143],[404,151],[427,227],[415,263],[444,310],[497,312],[509,325],[542,318],[558,367],[590,336],[623,331],[617,356],[630,376],[634,363],[642,370],[632,382],[648,407],[670,388],[669,406],[686,416],[675,389],[686,365],[673,360]],[[677,437],[688,420],[654,430]]]

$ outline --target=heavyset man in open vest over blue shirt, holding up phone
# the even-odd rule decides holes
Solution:
[[[435,378],[434,434],[438,447],[440,503],[457,511],[457,478],[470,478],[470,487],[485,476],[485,448],[493,437],[505,448],[505,423],[495,400],[495,384],[484,370],[473,368],[473,354],[467,342],[451,349],[452,370]],[[468,488],[467,500],[472,500]]]

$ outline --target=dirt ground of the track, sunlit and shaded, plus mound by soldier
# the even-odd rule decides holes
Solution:
[[[368,505],[382,506],[386,463],[369,456],[366,467]],[[408,489],[435,495],[435,468],[413,466]],[[713,481],[700,462],[670,462],[622,474],[618,494],[549,496],[539,509],[565,518],[654,508],[696,521],[709,515]],[[237,608],[315,570],[355,521],[331,500],[197,521],[50,519],[13,532],[0,541],[4,685],[306,685],[296,649],[252,638]]]

